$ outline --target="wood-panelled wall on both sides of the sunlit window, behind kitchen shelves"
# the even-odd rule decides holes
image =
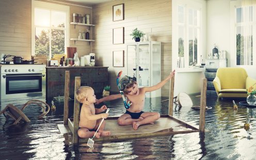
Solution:
[[[69,4],[42,2],[66,5],[70,7],[70,22],[73,22],[73,13],[91,14],[92,10],[86,7]],[[59,1],[69,3],[67,1]],[[81,5],[72,3],[75,5]],[[84,5],[83,5],[84,6]],[[91,6],[88,6],[91,7]],[[24,59],[31,59],[31,0],[1,0],[0,1],[0,54],[22,56]],[[78,31],[85,31],[86,26],[70,25],[70,38],[78,38]],[[89,29],[89,28],[88,28]],[[90,37],[92,33],[90,32]],[[91,53],[92,46],[88,42],[69,42],[69,46],[77,47],[79,56]],[[7,60],[11,60],[8,58]]]

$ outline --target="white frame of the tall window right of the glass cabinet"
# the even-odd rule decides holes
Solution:
[[[200,24],[198,25],[199,29],[199,35],[197,35],[197,63],[201,63],[201,57],[203,58],[204,56],[202,55],[202,39],[203,39],[203,4],[200,1],[191,1],[191,0],[173,0],[172,1],[172,68],[178,68],[177,67],[177,59],[179,57],[179,26],[181,24],[178,21],[178,7],[179,6],[184,6],[185,11],[184,11],[184,68],[189,67],[189,32],[188,29],[191,28],[191,25],[189,25],[189,19],[188,19],[188,10],[191,8],[193,10],[199,10],[199,19],[200,19]],[[192,27],[195,29],[194,25]],[[194,33],[194,31],[193,31]],[[194,35],[194,34],[193,34]],[[193,43],[194,44],[194,43]],[[194,46],[193,46],[193,52],[194,52]],[[194,56],[194,54],[193,54]]]

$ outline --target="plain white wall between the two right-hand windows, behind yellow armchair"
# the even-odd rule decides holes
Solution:
[[[238,1],[236,1],[238,2]],[[206,1],[207,9],[207,47],[206,56],[212,53],[213,44],[216,43],[218,51],[226,50],[228,67],[242,67],[245,68],[247,74],[256,79],[256,66],[235,66],[235,48],[232,45],[231,36],[234,34],[234,29],[232,29],[233,19],[232,19],[232,5],[237,4],[235,1],[230,0],[209,0]],[[238,2],[238,4],[241,2]],[[234,43],[234,41],[233,41]],[[254,64],[256,65],[256,64]]]

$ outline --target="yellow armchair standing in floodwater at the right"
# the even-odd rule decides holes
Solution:
[[[248,96],[246,89],[255,83],[256,80],[248,77],[245,69],[232,67],[219,68],[213,80],[218,98],[245,98]]]

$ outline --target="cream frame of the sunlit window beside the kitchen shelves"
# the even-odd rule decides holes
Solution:
[[[65,5],[58,5],[58,4],[52,4],[52,3],[46,3],[46,2],[40,2],[40,1],[31,1],[31,55],[35,56],[35,36],[36,36],[36,27],[41,27],[41,26],[36,26],[35,25],[35,8],[41,8],[41,9],[49,9],[51,11],[61,11],[61,12],[66,12],[67,17],[66,17],[66,26],[63,30],[65,30],[65,54],[67,55],[67,46],[69,46],[69,26],[70,26],[70,7],[65,6]],[[50,55],[51,55],[51,29],[60,29],[58,27],[45,27],[43,28],[48,28],[50,29]]]

